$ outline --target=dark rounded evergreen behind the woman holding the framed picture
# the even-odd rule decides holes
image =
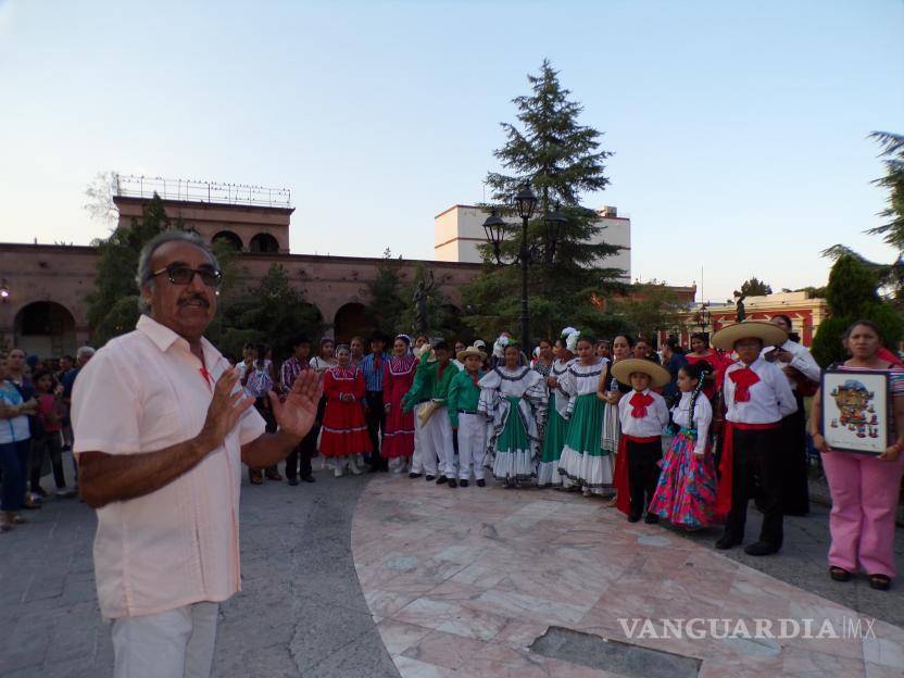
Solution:
[[[856,256],[841,256],[832,266],[826,287],[831,317],[819,324],[811,350],[816,362],[826,367],[847,357],[841,343],[844,330],[855,321],[875,322],[887,346],[895,346],[904,336],[904,321],[876,291],[874,272]]]

